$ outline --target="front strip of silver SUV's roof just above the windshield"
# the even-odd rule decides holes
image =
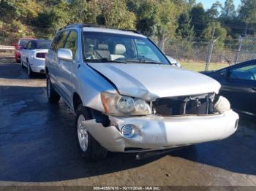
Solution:
[[[123,34],[129,36],[139,36],[146,38],[142,34],[135,33],[134,31],[127,31],[121,29],[112,29],[112,28],[97,28],[97,27],[83,27],[83,31],[85,32],[98,32],[98,33],[109,33],[109,34]]]

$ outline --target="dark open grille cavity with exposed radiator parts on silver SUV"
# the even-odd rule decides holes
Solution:
[[[154,114],[172,116],[184,114],[213,114],[214,93],[158,98],[153,102]]]

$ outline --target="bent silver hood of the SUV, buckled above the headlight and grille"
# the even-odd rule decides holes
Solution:
[[[88,63],[110,79],[121,95],[154,101],[179,95],[218,93],[220,84],[203,74],[176,66],[146,63]]]

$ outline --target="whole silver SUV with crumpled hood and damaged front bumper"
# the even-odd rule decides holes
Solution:
[[[76,114],[80,152],[145,152],[225,139],[238,114],[219,82],[172,66],[136,31],[75,24],[54,37],[45,59],[50,103]]]

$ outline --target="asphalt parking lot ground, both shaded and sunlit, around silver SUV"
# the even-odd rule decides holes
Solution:
[[[0,185],[256,185],[256,125],[247,117],[229,139],[97,163],[80,157],[74,124],[64,101],[48,104],[45,77],[0,59]]]

